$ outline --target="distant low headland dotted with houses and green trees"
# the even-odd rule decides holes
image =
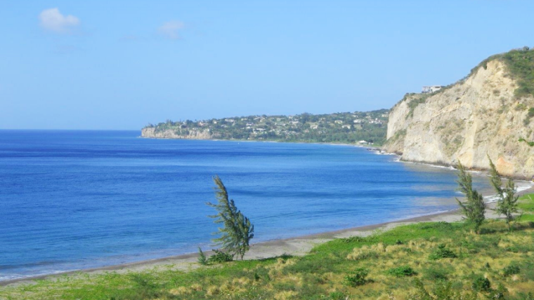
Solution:
[[[148,125],[142,137],[167,139],[240,139],[278,142],[386,141],[389,110],[295,116],[243,116]]]

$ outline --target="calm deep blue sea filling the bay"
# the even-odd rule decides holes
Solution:
[[[0,280],[209,250],[214,175],[254,243],[456,207],[454,170],[361,147],[139,135],[0,130]]]

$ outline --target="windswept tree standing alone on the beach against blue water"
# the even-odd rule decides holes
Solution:
[[[254,238],[254,225],[240,210],[237,210],[234,200],[228,199],[228,191],[221,178],[215,176],[213,181],[216,185],[214,189],[217,203],[206,204],[214,207],[217,214],[208,217],[214,218],[216,224],[222,225],[219,231],[214,233],[220,235],[219,238],[214,238],[213,242],[232,255],[241,257],[242,260],[250,248],[250,240]]]

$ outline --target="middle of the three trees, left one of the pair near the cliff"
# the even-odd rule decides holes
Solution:
[[[467,222],[474,225],[475,232],[478,233],[478,229],[486,218],[486,203],[480,193],[473,189],[473,179],[462,163],[458,162],[457,166],[460,173],[458,173],[457,183],[460,186],[458,191],[461,191],[466,198],[465,202],[462,202],[456,198],[458,205],[462,209]]]

